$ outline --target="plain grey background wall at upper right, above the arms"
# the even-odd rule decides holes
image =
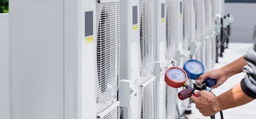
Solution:
[[[225,15],[234,16],[230,42],[253,43],[253,26],[256,23],[256,3],[225,3]]]

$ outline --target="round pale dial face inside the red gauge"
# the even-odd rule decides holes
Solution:
[[[171,80],[176,82],[182,82],[186,79],[185,73],[179,68],[171,68],[167,74]]]

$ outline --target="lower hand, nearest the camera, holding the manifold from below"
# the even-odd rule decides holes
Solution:
[[[195,108],[198,109],[203,116],[213,116],[219,112],[214,101],[216,97],[213,94],[205,90],[195,90],[195,94],[198,97],[190,96],[189,99],[195,103]]]

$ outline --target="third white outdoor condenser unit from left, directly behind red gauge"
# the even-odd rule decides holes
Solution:
[[[174,119],[177,114],[176,89],[166,84],[164,74],[172,66],[171,61],[174,60],[178,48],[178,3],[178,0],[156,2],[157,62],[154,73],[157,80],[158,119]]]

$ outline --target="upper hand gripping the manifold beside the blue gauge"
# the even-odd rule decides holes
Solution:
[[[196,82],[203,82],[207,78],[217,79],[217,83],[210,87],[211,89],[219,87],[221,84],[223,84],[229,77],[224,74],[224,71],[222,69],[215,69],[208,71],[202,75],[199,76],[199,79],[196,79]]]

